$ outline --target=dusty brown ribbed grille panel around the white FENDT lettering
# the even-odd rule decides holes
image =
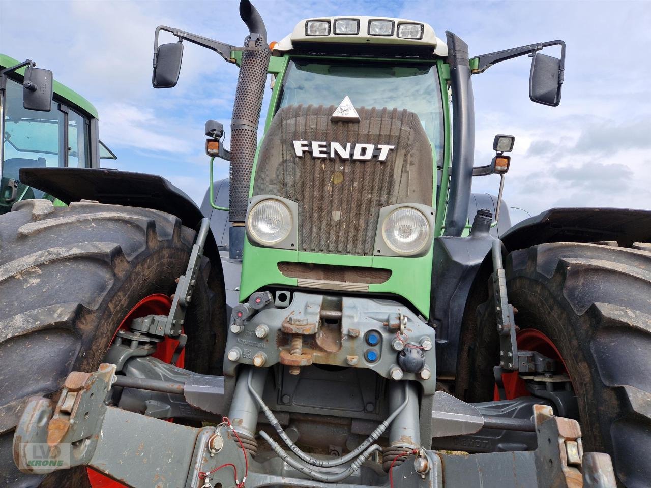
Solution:
[[[372,255],[383,206],[432,204],[432,150],[413,113],[359,109],[361,121],[331,122],[334,106],[281,109],[265,136],[254,195],[278,195],[299,204],[299,249]],[[292,141],[391,144],[385,161],[296,157]]]

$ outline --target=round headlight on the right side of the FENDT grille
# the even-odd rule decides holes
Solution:
[[[430,224],[414,208],[398,208],[389,213],[382,223],[382,238],[398,254],[415,254],[422,251],[430,239]]]

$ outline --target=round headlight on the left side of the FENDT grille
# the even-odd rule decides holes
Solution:
[[[247,227],[258,243],[277,244],[292,231],[292,214],[278,200],[262,200],[249,212]]]

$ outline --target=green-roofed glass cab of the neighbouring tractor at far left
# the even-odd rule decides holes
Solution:
[[[69,88],[53,82],[51,72],[47,72],[51,88],[47,100],[42,100],[40,107],[25,103],[25,84],[29,83],[25,67],[12,69],[20,64],[24,63],[0,55],[0,213],[29,198],[55,200],[21,183],[21,168],[98,168],[100,158],[115,159],[115,154],[98,140],[95,107]],[[30,65],[27,69],[36,68]]]

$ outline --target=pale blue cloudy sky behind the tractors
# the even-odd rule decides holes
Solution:
[[[651,210],[651,1],[254,4],[269,40],[281,40],[303,18],[350,15],[423,21],[441,38],[450,30],[467,42],[471,56],[564,40],[559,107],[529,100],[527,57],[473,76],[475,165],[490,162],[496,133],[516,136],[504,192],[514,222],[559,206]],[[247,34],[238,2],[230,0],[0,0],[0,52],[53,70],[97,107],[100,139],[118,156],[104,161],[106,167],[160,174],[200,203],[208,185],[204,122],[219,120],[228,129],[238,68],[186,44],[176,88],[155,90],[158,25],[235,46]],[[263,119],[269,96],[266,90]],[[215,176],[227,174],[227,163],[217,163]],[[473,191],[496,194],[498,185],[495,175],[475,178]]]

